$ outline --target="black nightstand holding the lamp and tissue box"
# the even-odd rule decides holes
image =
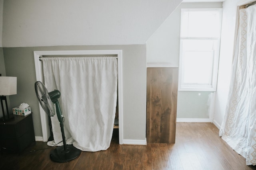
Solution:
[[[35,141],[32,113],[26,116],[14,115],[14,119],[0,122],[0,147],[21,152]]]

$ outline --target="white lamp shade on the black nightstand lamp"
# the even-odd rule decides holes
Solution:
[[[0,95],[17,94],[17,77],[0,76]]]

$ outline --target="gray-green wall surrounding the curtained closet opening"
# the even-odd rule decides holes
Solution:
[[[35,136],[42,136],[42,127],[34,91],[36,72],[33,52],[52,50],[122,50],[124,139],[146,139],[146,45],[3,48],[6,75],[17,76],[17,94],[10,96],[10,108],[23,102],[30,105]]]

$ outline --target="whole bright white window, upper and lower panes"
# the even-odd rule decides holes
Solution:
[[[216,91],[221,9],[182,9],[180,91]]]

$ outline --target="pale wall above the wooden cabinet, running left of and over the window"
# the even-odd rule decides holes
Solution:
[[[147,63],[179,66],[181,8],[222,8],[222,3],[181,3],[148,39]]]

